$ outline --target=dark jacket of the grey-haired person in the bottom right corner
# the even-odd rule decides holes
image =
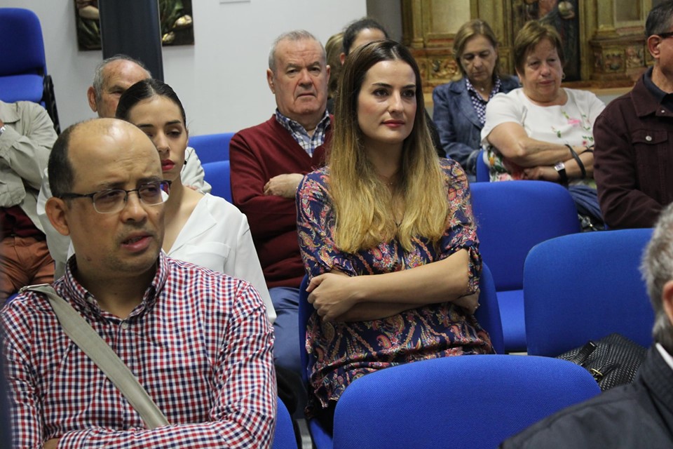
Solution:
[[[633,384],[615,387],[509,438],[512,448],[673,448],[673,370],[652,347]]]

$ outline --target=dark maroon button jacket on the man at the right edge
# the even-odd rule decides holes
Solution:
[[[643,80],[594,123],[594,179],[605,222],[615,229],[653,227],[673,202],[673,112]]]

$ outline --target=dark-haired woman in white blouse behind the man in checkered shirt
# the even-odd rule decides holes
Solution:
[[[144,79],[125,91],[116,116],[135,124],[151,138],[166,180],[172,182],[165,203],[163,250],[215,272],[252,283],[273,323],[276,312],[243,213],[225,199],[182,185],[180,170],[188,133],[182,102],[168,84]]]

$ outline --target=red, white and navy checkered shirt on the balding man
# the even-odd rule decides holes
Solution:
[[[249,283],[161,253],[126,319],[72,276],[54,285],[128,365],[171,425],[148,430],[65,335],[46,297],[1,311],[16,448],[268,448],[276,417],[273,330]],[[1,443],[0,443],[1,445]]]

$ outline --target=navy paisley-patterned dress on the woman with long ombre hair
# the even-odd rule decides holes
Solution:
[[[470,254],[470,289],[479,283],[481,257],[470,206],[467,178],[455,161],[440,159],[447,187],[449,214],[436,246],[422,237],[406,252],[393,240],[370,250],[344,253],[334,245],[334,209],[329,196],[329,168],[309,173],[297,191],[299,247],[308,276],[332,269],[366,276],[410,269],[442,260],[465,248]],[[472,314],[451,302],[430,304],[386,319],[358,322],[308,320],[306,351],[313,353],[310,383],[313,397],[306,413],[337,401],[353,380],[400,363],[457,356],[491,354],[491,340]]]

